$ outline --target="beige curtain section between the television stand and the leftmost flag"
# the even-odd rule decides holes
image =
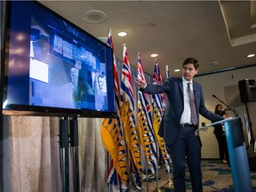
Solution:
[[[81,191],[107,191],[107,152],[100,138],[100,118],[79,119]]]

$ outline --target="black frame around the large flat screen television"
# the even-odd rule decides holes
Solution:
[[[45,12],[49,12],[53,17],[57,17],[60,20],[63,20],[66,25],[71,28],[76,29],[76,32],[79,32],[79,35],[83,35],[87,38],[90,37],[92,42],[97,42],[100,47],[104,46],[108,49],[108,56],[111,57],[111,63],[108,58],[108,66],[106,63],[106,76],[107,76],[107,95],[108,98],[108,108],[109,110],[98,110],[97,108],[61,108],[61,107],[52,107],[52,106],[36,106],[31,104],[9,104],[7,107],[4,107],[4,101],[6,99],[6,85],[8,81],[10,81],[9,76],[7,76],[8,68],[6,68],[9,61],[9,41],[10,41],[10,22],[11,22],[11,7],[12,4],[35,4],[40,7],[39,9],[43,9]],[[26,5],[25,5],[26,6]],[[44,4],[40,4],[36,1],[24,1],[20,3],[19,1],[6,1],[6,17],[4,22],[4,47],[1,50],[1,109],[3,115],[19,115],[19,116],[71,116],[71,117],[116,117],[116,100],[115,100],[115,85],[114,85],[114,67],[113,67],[113,50],[107,44],[102,43],[98,38],[92,36],[88,32],[84,31],[84,29],[77,27],[75,24],[70,22],[69,20],[63,18],[58,13],[53,12],[48,7],[44,6]],[[20,7],[20,12],[22,12],[22,7]],[[32,12],[32,11],[31,11]],[[31,16],[32,17],[32,16]],[[31,35],[31,34],[30,34]],[[83,38],[83,36],[82,36]],[[50,46],[50,45],[49,45]],[[30,52],[30,51],[29,51]],[[110,54],[110,53],[111,54]],[[30,57],[28,55],[28,57]],[[58,57],[55,54],[55,57]],[[71,62],[72,60],[65,59],[67,62]],[[7,63],[6,63],[7,62]],[[96,72],[95,72],[96,73]],[[27,86],[29,86],[27,84]],[[95,95],[95,100],[97,100],[97,96]],[[109,104],[109,102],[111,102]]]

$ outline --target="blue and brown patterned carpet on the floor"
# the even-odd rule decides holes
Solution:
[[[228,164],[222,164],[220,160],[203,160],[202,161],[202,173],[203,173],[203,190],[204,192],[233,192],[233,180],[231,168]],[[166,172],[164,166],[158,171],[158,182],[156,177],[149,177],[148,183],[146,180],[142,182],[143,191],[161,191],[172,192],[170,184],[168,183],[169,174]],[[148,174],[148,176],[150,176]],[[251,172],[252,187],[256,187],[256,172]],[[172,175],[171,175],[172,178]],[[164,188],[169,186],[169,188]],[[186,170],[186,190],[192,192],[191,182],[189,179],[188,169]],[[254,191],[256,191],[254,189]]]

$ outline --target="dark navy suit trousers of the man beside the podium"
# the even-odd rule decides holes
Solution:
[[[187,157],[193,192],[203,191],[201,172],[201,140],[195,135],[196,127],[180,127],[181,131],[169,147],[173,164],[173,185],[175,192],[186,191],[185,161]]]

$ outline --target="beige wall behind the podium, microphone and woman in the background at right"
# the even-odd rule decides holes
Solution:
[[[239,116],[244,116],[244,114],[248,116],[246,113],[245,104],[240,100],[238,81],[243,79],[255,79],[255,74],[256,66],[253,66],[248,68],[237,68],[205,76],[196,76],[195,80],[202,85],[206,108],[214,112],[215,106],[220,103],[219,100],[212,97],[212,94],[215,94],[229,107],[234,108],[238,112]],[[223,107],[226,108],[224,104]],[[256,102],[248,102],[247,107],[252,122],[253,138],[255,140]],[[228,116],[235,116],[235,114],[228,110]],[[203,116],[200,116],[200,125],[202,123],[205,123],[206,125],[211,124],[209,120],[205,119]],[[209,127],[206,131],[200,132],[200,138],[203,144],[202,158],[219,158],[219,148],[217,140],[213,134],[213,127]],[[248,145],[247,138],[247,132],[244,128],[244,140],[246,146]],[[252,148],[248,148],[249,154],[252,154],[251,150]]]

